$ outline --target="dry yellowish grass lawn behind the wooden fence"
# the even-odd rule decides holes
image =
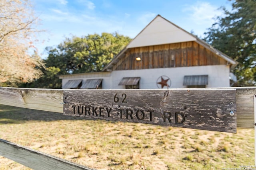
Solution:
[[[0,105],[0,138],[99,170],[219,170],[254,165],[254,130],[237,134],[85,120]],[[28,170],[0,156],[0,170]]]

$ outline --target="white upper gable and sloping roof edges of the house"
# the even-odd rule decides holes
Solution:
[[[208,43],[198,39],[198,37],[192,35],[188,31],[178,27],[174,23],[166,20],[160,15],[157,15],[140,33],[126,46],[118,55],[116,55],[110,63],[108,63],[102,71],[107,71],[112,68],[113,64],[119,61],[119,58],[128,51],[130,48],[134,47],[145,47],[152,45],[161,44],[171,44],[171,43],[181,43],[186,41],[195,41],[196,43],[202,45],[206,49],[212,51],[222,59],[226,60],[228,63],[232,64],[232,67],[236,66],[237,62],[234,61],[229,56],[225,55],[221,51],[215,49]]]

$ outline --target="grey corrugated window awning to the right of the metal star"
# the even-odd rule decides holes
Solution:
[[[203,86],[208,84],[208,75],[184,76],[183,86]]]

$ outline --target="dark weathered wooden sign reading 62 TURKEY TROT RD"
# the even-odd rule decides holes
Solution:
[[[64,90],[64,115],[236,133],[236,89]]]

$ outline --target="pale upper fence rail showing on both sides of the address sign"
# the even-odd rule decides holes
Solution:
[[[237,128],[254,129],[253,96],[256,94],[256,87],[234,89],[236,89]],[[0,104],[4,105],[63,113],[63,105],[60,105],[62,102],[62,89],[0,87]]]

